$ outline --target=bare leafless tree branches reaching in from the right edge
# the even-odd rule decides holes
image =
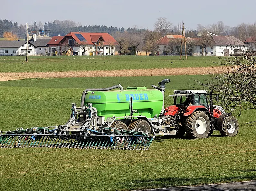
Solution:
[[[221,59],[221,74],[211,73],[203,85],[220,95],[228,111],[256,109],[256,59],[250,53]]]

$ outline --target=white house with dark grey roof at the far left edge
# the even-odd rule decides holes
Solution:
[[[25,40],[1,40],[0,41],[0,55],[1,56],[16,56],[26,55],[27,41]],[[35,55],[35,46],[28,42],[28,55]]]

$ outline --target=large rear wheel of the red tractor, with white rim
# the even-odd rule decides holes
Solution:
[[[206,138],[210,133],[210,120],[206,113],[193,112],[185,121],[186,134],[189,138]]]

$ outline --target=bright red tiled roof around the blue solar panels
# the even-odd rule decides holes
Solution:
[[[80,41],[75,34],[81,34],[86,41]],[[104,45],[113,44],[116,45],[117,41],[109,33],[96,33],[96,32],[70,32],[66,37],[73,37],[78,44],[94,45],[101,37],[104,41]]]

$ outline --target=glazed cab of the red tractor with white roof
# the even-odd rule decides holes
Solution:
[[[175,106],[182,108],[190,105],[202,105],[209,108],[205,90],[175,90],[173,95]]]

